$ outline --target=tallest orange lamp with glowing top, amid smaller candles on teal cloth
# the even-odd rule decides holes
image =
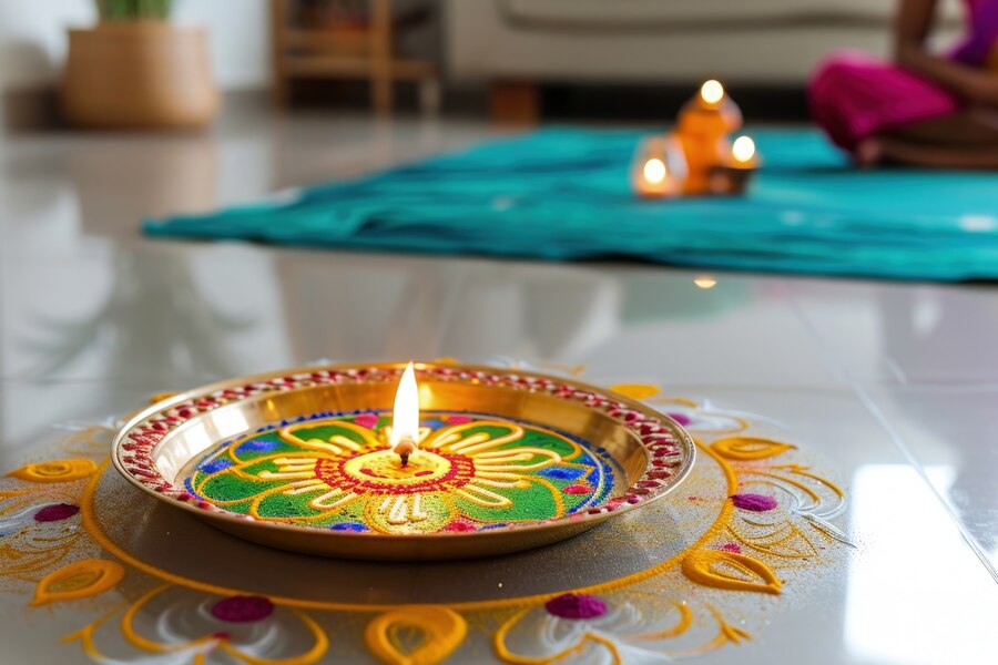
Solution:
[[[727,135],[742,126],[742,111],[717,81],[706,81],[700,93],[680,110],[675,134],[685,154],[689,175],[685,194],[711,191],[711,170],[731,158]]]

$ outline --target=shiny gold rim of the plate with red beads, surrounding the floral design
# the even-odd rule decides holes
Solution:
[[[112,461],[135,487],[240,538],[363,560],[465,559],[547,545],[661,499],[692,469],[693,440],[679,423],[609,390],[516,369],[420,362],[416,371],[421,408],[491,413],[601,447],[625,474],[622,491],[584,513],[544,522],[477,532],[383,534],[254,520],[201,502],[183,488],[185,467],[223,441],[322,411],[391,409],[404,368],[401,362],[309,367],[204,386],[133,418],[114,439]]]

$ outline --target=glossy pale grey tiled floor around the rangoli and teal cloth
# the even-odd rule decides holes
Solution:
[[[987,661],[998,616],[992,287],[723,274],[702,288],[693,273],[658,267],[151,243],[136,232],[143,215],[492,133],[253,112],[206,135],[6,139],[2,467],[53,422],[318,359],[584,364],[594,382],[659,382],[770,416],[846,479],[864,540],[845,582],[711,662]]]

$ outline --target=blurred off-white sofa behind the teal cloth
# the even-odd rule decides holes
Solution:
[[[448,0],[456,80],[803,84],[835,49],[886,55],[897,0]],[[944,40],[958,30],[946,0]]]

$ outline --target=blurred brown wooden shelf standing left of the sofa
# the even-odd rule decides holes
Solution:
[[[414,21],[411,17],[399,17],[406,20],[396,25],[390,0],[368,0],[370,21],[343,29],[291,24],[288,9],[294,3],[295,0],[271,0],[273,85],[278,103],[287,102],[287,88],[294,79],[368,79],[378,113],[391,110],[393,85],[397,81],[419,82],[424,108],[436,110],[439,88],[434,64],[394,53],[395,29]]]

